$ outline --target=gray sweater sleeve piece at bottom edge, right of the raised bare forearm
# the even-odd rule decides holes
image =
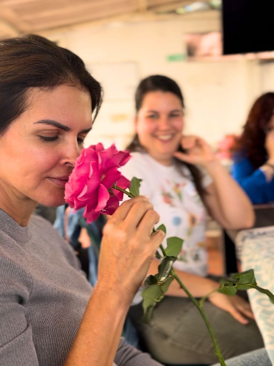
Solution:
[[[129,346],[121,338],[119,347],[114,360],[118,366],[161,366],[162,364],[154,361],[147,353],[141,352]]]

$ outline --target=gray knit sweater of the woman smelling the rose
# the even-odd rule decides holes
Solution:
[[[1,366],[63,365],[91,292],[73,250],[50,223],[32,217],[21,227],[0,209]],[[159,365],[123,340],[115,363]]]

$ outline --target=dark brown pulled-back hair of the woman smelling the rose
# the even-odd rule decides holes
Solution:
[[[80,57],[41,36],[0,41],[0,136],[26,110],[29,88],[50,90],[60,85],[87,90],[96,117],[102,89]]]

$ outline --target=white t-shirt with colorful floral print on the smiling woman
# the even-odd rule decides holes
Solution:
[[[189,169],[183,164],[166,167],[146,153],[131,155],[129,162],[121,168],[122,174],[129,180],[134,176],[142,179],[140,194],[148,197],[159,213],[159,225],[163,223],[167,228],[166,238],[178,236],[184,239],[174,268],[206,276],[206,209]],[[206,187],[212,183],[212,178],[202,174],[202,186]],[[166,245],[165,240],[163,246]]]

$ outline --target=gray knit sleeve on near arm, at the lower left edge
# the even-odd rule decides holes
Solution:
[[[0,365],[38,366],[24,306],[29,290],[21,281],[23,274],[6,262],[0,256]]]

